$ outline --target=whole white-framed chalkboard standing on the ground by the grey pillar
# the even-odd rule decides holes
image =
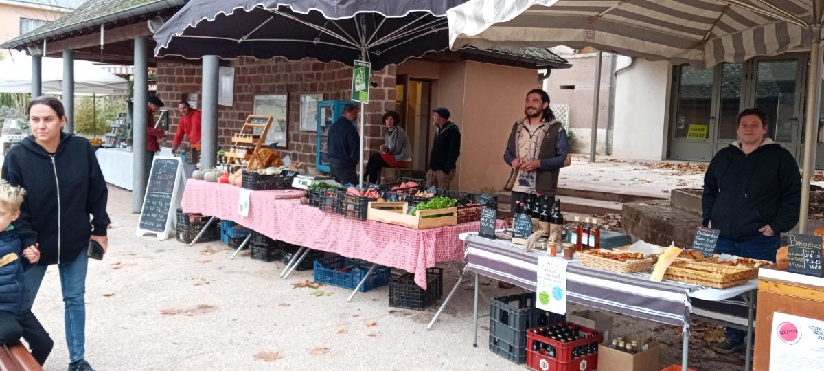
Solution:
[[[173,227],[171,211],[177,207],[177,193],[181,178],[180,158],[154,158],[152,170],[149,172],[146,195],[143,197],[143,209],[140,210],[138,236],[143,236],[148,232],[156,233],[161,240],[169,237]]]

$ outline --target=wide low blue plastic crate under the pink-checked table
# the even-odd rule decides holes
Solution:
[[[314,279],[315,282],[331,284],[344,289],[354,289],[358,287],[363,276],[369,271],[371,265],[358,263],[344,256],[332,256],[324,260],[315,261]],[[337,269],[345,268],[349,272],[341,272]],[[389,284],[391,270],[385,266],[377,266],[372,270],[372,275],[363,286],[360,292],[365,293],[371,289],[377,289]]]

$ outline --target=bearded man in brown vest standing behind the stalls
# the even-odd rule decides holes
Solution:
[[[550,96],[541,89],[527,93],[526,117],[513,124],[503,161],[512,167],[504,188],[512,190],[512,212],[530,194],[555,197],[561,167],[569,166],[569,142],[564,126],[555,120]]]

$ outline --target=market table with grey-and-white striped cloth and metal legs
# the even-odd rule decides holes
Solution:
[[[490,240],[468,234],[466,270],[475,274],[475,339],[478,343],[478,275],[499,279],[523,289],[536,290],[538,256],[542,252],[522,250],[506,240]],[[555,259],[561,259],[556,257]],[[567,298],[570,302],[610,312],[648,319],[669,325],[681,325],[684,331],[681,368],[686,369],[690,337],[690,298],[720,301],[742,294],[749,295],[747,338],[752,332],[752,298],[757,279],[728,289],[710,289],[695,284],[664,280],[653,282],[649,274],[614,273],[570,261],[567,266]],[[745,369],[749,369],[751,347],[747,347]]]

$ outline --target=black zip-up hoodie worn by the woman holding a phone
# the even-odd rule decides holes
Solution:
[[[88,140],[61,133],[48,153],[34,136],[23,139],[6,154],[2,178],[26,189],[14,228],[24,248],[40,243],[38,265],[74,261],[92,234],[105,236],[109,191]]]

